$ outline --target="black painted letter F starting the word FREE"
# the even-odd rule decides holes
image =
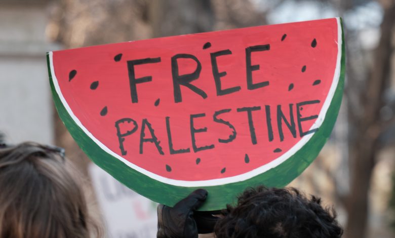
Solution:
[[[139,101],[138,97],[137,97],[136,85],[152,81],[152,76],[145,76],[145,77],[136,78],[136,75],[134,72],[134,66],[140,65],[140,64],[158,63],[158,62],[161,62],[161,57],[129,60],[127,62],[128,63],[128,71],[129,71],[130,95],[132,97],[132,103],[136,103]]]

